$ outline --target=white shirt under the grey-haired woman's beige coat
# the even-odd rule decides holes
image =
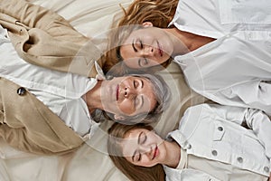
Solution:
[[[91,119],[88,106],[81,97],[96,85],[96,79],[24,62],[1,26],[0,52],[1,77],[29,90],[80,136],[93,134],[98,124]]]

